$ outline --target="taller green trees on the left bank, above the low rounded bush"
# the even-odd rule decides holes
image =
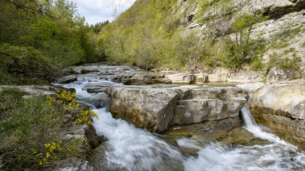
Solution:
[[[85,18],[77,15],[74,2],[1,1],[0,6],[0,45],[8,43],[34,47],[48,57],[53,65],[98,61],[96,40],[88,36],[91,32],[99,31],[90,29]]]

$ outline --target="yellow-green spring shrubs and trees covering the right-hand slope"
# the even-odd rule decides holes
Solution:
[[[180,23],[181,17],[186,16],[177,15],[172,6],[175,3],[139,1],[134,4],[138,8],[120,16],[114,14],[116,19],[104,27],[98,39],[101,54],[113,64],[133,64],[143,69],[211,72],[218,66],[239,70],[266,50],[263,39],[250,37],[253,25],[268,18],[263,11],[233,13],[231,0],[196,1],[189,8],[195,9],[200,3],[195,17],[207,28],[186,34]]]

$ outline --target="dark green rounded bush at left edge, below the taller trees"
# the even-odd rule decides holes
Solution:
[[[39,51],[32,47],[3,44],[0,45],[0,56],[1,84],[14,83],[14,81],[9,80],[9,75],[12,76],[13,80],[14,78],[20,78],[21,84],[31,79],[33,82],[37,79],[51,82],[57,72],[51,60],[42,56]],[[25,80],[22,80],[22,78]]]

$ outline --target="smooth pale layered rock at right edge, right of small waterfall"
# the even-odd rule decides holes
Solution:
[[[256,121],[285,134],[284,139],[305,149],[304,84],[268,84],[253,92],[248,106]]]

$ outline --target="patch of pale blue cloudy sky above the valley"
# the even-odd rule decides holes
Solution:
[[[95,24],[101,21],[112,21],[111,14],[116,8],[118,13],[126,11],[132,6],[135,0],[72,0],[77,4],[78,13],[85,16],[88,24]]]

